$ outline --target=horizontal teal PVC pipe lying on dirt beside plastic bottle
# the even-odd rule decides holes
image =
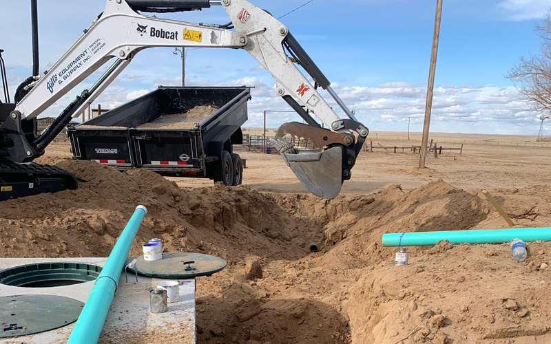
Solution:
[[[382,241],[383,246],[424,246],[435,245],[441,240],[448,240],[451,244],[501,244],[517,238],[551,241],[551,227],[384,233]]]

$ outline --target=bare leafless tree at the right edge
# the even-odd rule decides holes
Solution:
[[[539,54],[522,56],[506,77],[518,82],[517,88],[528,109],[551,114],[551,10],[536,25],[536,32],[541,39]]]

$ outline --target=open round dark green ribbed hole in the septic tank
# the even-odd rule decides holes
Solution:
[[[0,284],[14,287],[49,288],[94,281],[100,266],[65,261],[14,266],[0,271]]]

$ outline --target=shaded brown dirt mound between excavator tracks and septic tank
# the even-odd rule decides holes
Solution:
[[[121,173],[81,160],[58,166],[81,180],[79,189],[3,202],[3,257],[107,257],[138,204],[148,215],[131,255],[160,237],[167,251],[198,250],[230,261],[247,255],[296,259],[313,240],[304,228],[315,223],[290,216],[273,198],[247,187],[179,189],[143,169]]]

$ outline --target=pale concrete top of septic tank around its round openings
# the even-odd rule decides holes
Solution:
[[[81,266],[90,266],[90,270],[92,270],[92,266],[103,267],[105,261],[107,261],[107,257],[1,258],[0,270],[10,270],[19,266],[30,266],[32,264],[67,264],[67,261],[81,264]],[[118,279],[117,289],[110,310],[107,313],[99,343],[142,343],[144,341],[157,343],[158,341],[155,339],[159,333],[164,335],[163,338],[170,336],[172,343],[196,343],[195,279],[180,280],[178,301],[169,303],[167,312],[154,314],[149,311],[149,290],[156,288],[158,282],[162,280],[143,276],[134,277],[134,273],[127,275],[128,281],[126,281],[124,272],[121,278]],[[21,288],[19,286],[0,283],[0,299],[19,295],[70,297],[76,301],[80,301],[81,305],[83,305],[87,301],[95,281],[96,278],[94,277],[84,283],[50,287],[43,286],[41,288]],[[61,303],[61,306],[63,306],[63,303]],[[0,304],[0,310],[9,309],[5,305]],[[11,314],[17,313],[9,313],[10,318],[14,317]],[[11,328],[15,329],[21,326],[19,322],[10,323],[9,319],[1,319],[1,321],[6,321],[6,324],[3,324],[3,327],[1,327],[1,330],[6,329],[6,332]],[[12,326],[12,324],[15,325]],[[67,326],[34,334],[27,332],[26,329],[30,327],[23,325],[21,327],[25,327],[24,334],[18,334],[12,330],[14,336],[18,336],[18,338],[0,337],[0,343],[8,341],[10,343],[25,344],[66,343],[74,329],[74,324],[74,322],[69,323],[67,321],[67,324],[65,324]]]

